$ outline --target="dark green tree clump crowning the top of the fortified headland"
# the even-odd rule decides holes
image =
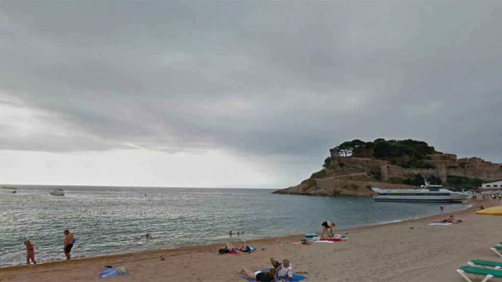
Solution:
[[[364,142],[359,139],[344,142],[337,147],[341,157],[374,158],[389,161],[393,165],[403,168],[434,168],[427,163],[427,155],[441,154],[426,142],[405,139],[386,140],[379,138],[373,142]],[[325,161],[326,163],[326,161]]]

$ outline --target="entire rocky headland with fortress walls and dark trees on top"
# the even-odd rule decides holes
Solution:
[[[370,196],[371,187],[415,189],[426,177],[431,184],[449,189],[476,188],[482,182],[502,179],[502,165],[480,158],[457,159],[437,152],[422,141],[352,140],[330,149],[323,169],[299,185],[275,194],[314,196]]]

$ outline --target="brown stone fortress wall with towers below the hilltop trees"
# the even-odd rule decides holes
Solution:
[[[431,160],[427,160],[435,168],[430,169],[405,169],[400,166],[391,165],[388,161],[375,160],[371,158],[340,157],[338,150],[330,149],[331,165],[339,163],[348,164],[359,168],[367,173],[380,173],[382,180],[390,178],[413,178],[414,174],[421,174],[425,177],[435,176],[446,182],[448,176],[463,176],[468,178],[479,178],[484,181],[496,181],[502,179],[502,165],[486,162],[480,158],[457,159],[454,154],[433,154],[429,155]]]

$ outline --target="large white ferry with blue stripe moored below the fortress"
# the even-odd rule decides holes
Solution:
[[[371,190],[375,192],[374,201],[460,203],[469,196],[467,193],[453,192],[442,187],[441,185],[430,185],[425,181],[425,185],[421,185],[420,189],[371,187]]]

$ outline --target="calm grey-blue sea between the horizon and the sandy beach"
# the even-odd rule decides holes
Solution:
[[[435,203],[385,203],[359,197],[271,194],[269,189],[18,186],[0,189],[0,266],[64,258],[63,230],[75,234],[73,258],[320,231],[325,220],[347,228],[439,213]],[[444,205],[444,204],[443,204]],[[446,211],[466,208],[446,204]],[[150,233],[151,238],[141,235]]]

